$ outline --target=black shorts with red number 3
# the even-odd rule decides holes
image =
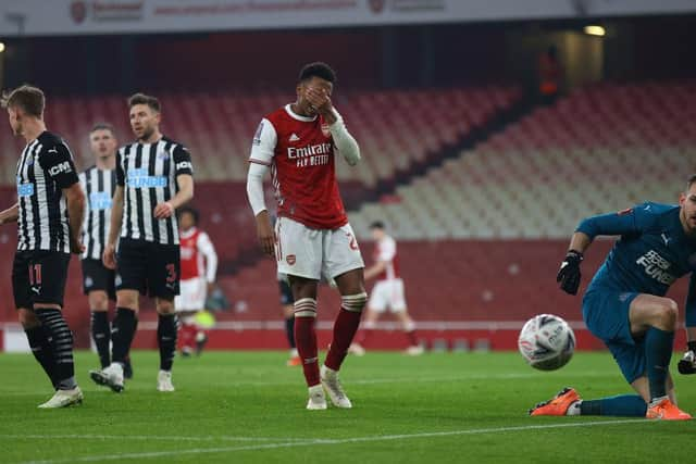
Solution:
[[[178,294],[178,244],[122,238],[116,263],[116,290],[138,290],[169,301]]]

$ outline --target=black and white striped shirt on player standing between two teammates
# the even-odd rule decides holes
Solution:
[[[111,202],[116,188],[116,170],[100,170],[92,166],[79,174],[79,184],[85,190],[86,211],[83,243],[84,259],[101,260],[109,238]]]

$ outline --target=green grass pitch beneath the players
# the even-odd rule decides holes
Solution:
[[[78,353],[85,403],[42,411],[51,391],[38,364],[0,355],[0,463],[693,461],[696,422],[526,415],[566,385],[587,399],[627,392],[607,353],[576,354],[554,373],[517,353],[368,353],[341,373],[353,409],[311,412],[284,353],[177,359],[174,393],[154,389],[157,353],[133,359],[135,379],[115,394],[90,383],[96,355]],[[696,412],[696,378],[676,385],[681,406]]]

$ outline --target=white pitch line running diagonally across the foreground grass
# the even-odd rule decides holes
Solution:
[[[190,450],[176,450],[176,451],[152,451],[142,453],[122,453],[122,454],[103,454],[83,457],[71,457],[69,460],[47,460],[47,461],[26,461],[20,464],[63,464],[63,463],[76,463],[76,462],[103,462],[103,461],[116,461],[128,459],[148,459],[148,457],[167,457],[179,456],[182,454],[211,454],[211,453],[229,453],[235,451],[262,451],[277,448],[296,448],[308,447],[318,444],[346,444],[358,442],[372,442],[372,441],[394,441],[394,440],[411,440],[419,438],[434,438],[434,437],[451,437],[461,435],[485,435],[485,434],[502,434],[510,431],[529,431],[529,430],[544,430],[556,428],[581,428],[581,427],[594,427],[604,425],[622,425],[622,424],[648,424],[645,418],[636,419],[619,419],[619,421],[594,421],[594,422],[581,422],[581,423],[563,423],[563,424],[545,424],[545,425],[523,425],[514,427],[490,427],[490,428],[470,428],[463,430],[449,430],[449,431],[430,431],[421,434],[400,434],[400,435],[382,435],[382,436],[369,436],[369,437],[353,437],[353,438],[339,438],[339,439],[308,439],[306,441],[291,441],[279,443],[265,443],[265,444],[248,444],[244,447],[221,447],[221,448],[195,448]]]

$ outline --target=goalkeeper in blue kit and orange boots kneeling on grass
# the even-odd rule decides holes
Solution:
[[[600,235],[621,239],[587,287],[583,319],[638,394],[583,401],[574,389],[566,388],[530,414],[691,419],[676,407],[669,373],[678,305],[664,294],[678,278],[692,273],[686,325],[696,327],[696,175],[688,179],[679,206],[648,202],[584,220],[558,273],[566,292],[577,293],[583,253]]]

